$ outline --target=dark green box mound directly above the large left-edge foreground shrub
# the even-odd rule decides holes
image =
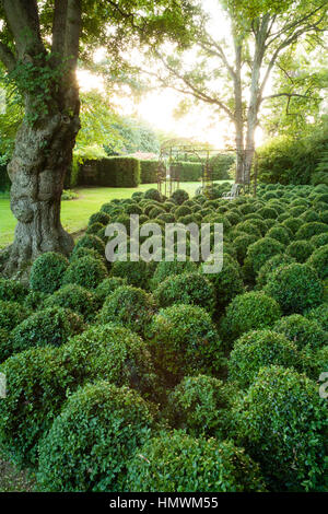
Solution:
[[[82,319],[67,308],[56,306],[38,311],[12,331],[10,354],[32,347],[60,347],[84,328]]]

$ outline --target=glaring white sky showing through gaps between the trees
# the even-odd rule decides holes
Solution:
[[[219,1],[203,0],[203,4],[211,13],[211,32],[215,35],[220,34],[222,38],[227,38],[229,24],[222,16]],[[99,50],[96,60],[101,60],[103,54]],[[82,90],[96,87],[104,91],[102,80],[87,71],[79,71],[79,82]],[[192,102],[191,108],[187,115],[177,118],[175,110],[184,97],[184,95],[174,90],[160,89],[145,94],[139,103],[136,103],[131,97],[126,97],[120,101],[120,105],[124,115],[134,115],[144,119],[156,129],[174,132],[184,138],[209,142],[218,149],[222,149],[226,144],[234,145],[234,131],[230,120],[214,113],[213,107],[206,103],[196,105],[195,101],[192,102],[192,97],[189,96]],[[258,129],[256,140],[258,144],[262,140],[260,128]]]

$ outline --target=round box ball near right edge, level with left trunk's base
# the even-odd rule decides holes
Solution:
[[[269,277],[265,288],[284,314],[300,313],[323,302],[324,288],[317,273],[307,265],[281,266]]]

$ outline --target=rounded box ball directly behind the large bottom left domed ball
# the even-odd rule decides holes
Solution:
[[[90,381],[105,379],[139,390],[147,398],[156,395],[156,375],[142,339],[114,323],[90,327],[65,347],[67,359],[83,365]]]

